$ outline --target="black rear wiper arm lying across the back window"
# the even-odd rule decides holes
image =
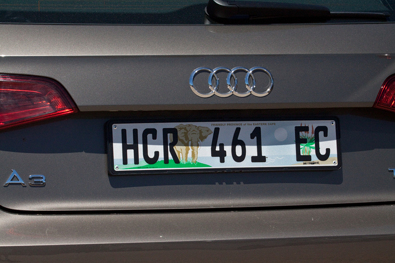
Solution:
[[[213,20],[257,19],[312,19],[330,18],[378,18],[390,16],[386,12],[330,12],[322,5],[262,1],[209,0],[205,9]]]

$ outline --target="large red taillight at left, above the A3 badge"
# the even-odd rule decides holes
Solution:
[[[0,129],[75,112],[75,103],[55,80],[0,75]]]

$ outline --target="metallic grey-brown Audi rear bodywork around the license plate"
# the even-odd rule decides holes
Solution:
[[[0,260],[392,262],[395,24],[0,25],[0,73],[58,80],[75,115],[0,133]],[[390,58],[390,59],[389,59]],[[264,66],[265,98],[203,99],[197,67]],[[197,110],[204,110],[198,111]],[[109,112],[124,111],[124,112]],[[109,119],[337,116],[343,167],[112,177]]]

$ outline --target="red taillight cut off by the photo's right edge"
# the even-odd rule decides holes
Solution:
[[[395,74],[384,81],[373,107],[395,112]]]

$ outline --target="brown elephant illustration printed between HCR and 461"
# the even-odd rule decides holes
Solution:
[[[178,132],[178,142],[174,146],[178,159],[180,162],[186,163],[189,150],[192,150],[192,163],[196,163],[199,141],[203,142],[213,132],[207,127],[193,124],[180,124],[174,128]],[[170,135],[170,141],[173,141],[172,135]]]

